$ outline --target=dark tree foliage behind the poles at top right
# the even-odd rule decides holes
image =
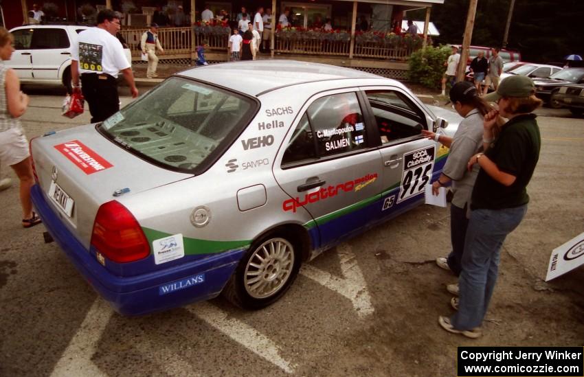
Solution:
[[[434,5],[431,21],[438,43],[462,44],[470,0],[445,0]],[[502,47],[511,0],[479,0],[471,45]],[[569,54],[584,54],[583,0],[516,0],[507,47],[518,49],[523,60],[561,62]],[[424,10],[408,12],[423,20]]]

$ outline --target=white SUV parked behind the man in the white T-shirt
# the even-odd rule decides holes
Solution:
[[[60,85],[71,91],[71,45],[89,26],[24,25],[10,30],[14,53],[4,62],[14,69],[21,84]],[[125,46],[124,46],[125,47]],[[131,63],[130,49],[124,48]]]

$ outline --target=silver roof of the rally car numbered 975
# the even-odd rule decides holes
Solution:
[[[295,60],[225,62],[181,71],[177,76],[210,82],[254,96],[304,82],[381,78],[357,69]]]

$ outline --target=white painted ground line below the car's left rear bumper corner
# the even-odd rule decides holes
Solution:
[[[96,352],[96,345],[112,314],[113,310],[106,301],[98,297],[61,355],[51,377],[106,376],[91,361],[91,356]]]

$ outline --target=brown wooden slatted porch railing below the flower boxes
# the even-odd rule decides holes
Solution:
[[[133,56],[140,54],[140,38],[146,32],[146,28],[124,28],[120,33],[130,46]],[[190,27],[164,27],[159,28],[158,37],[166,55],[179,55],[192,53],[192,31]],[[194,45],[201,45],[206,39],[209,43],[207,50],[226,52],[229,36],[215,34],[195,34]],[[322,41],[300,40],[294,38],[281,38],[276,34],[275,52],[280,54],[307,54],[319,56],[348,56],[350,50],[349,41]],[[381,47],[376,43],[355,44],[353,56],[357,58],[378,58],[389,60],[407,60],[414,52],[412,47]]]

